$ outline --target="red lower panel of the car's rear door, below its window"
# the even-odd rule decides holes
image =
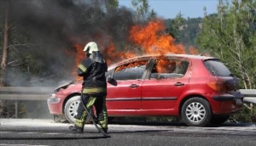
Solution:
[[[142,109],[172,109],[177,98],[183,93],[188,77],[171,79],[151,79],[143,82]],[[152,102],[154,101],[154,102]]]

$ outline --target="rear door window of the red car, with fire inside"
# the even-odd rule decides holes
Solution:
[[[150,78],[173,78],[185,75],[189,62],[184,59],[156,59]]]

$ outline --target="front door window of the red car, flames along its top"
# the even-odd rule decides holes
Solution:
[[[114,70],[113,79],[115,80],[136,80],[141,79],[148,61],[133,62],[121,65]]]

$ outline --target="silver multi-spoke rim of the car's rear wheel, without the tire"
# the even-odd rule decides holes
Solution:
[[[186,116],[191,122],[201,122],[207,115],[207,111],[201,103],[191,103],[186,108]]]

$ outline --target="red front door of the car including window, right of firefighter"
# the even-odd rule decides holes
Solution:
[[[142,108],[142,76],[147,63],[148,61],[132,62],[113,70],[113,82],[108,83],[108,111]]]

